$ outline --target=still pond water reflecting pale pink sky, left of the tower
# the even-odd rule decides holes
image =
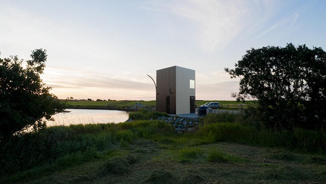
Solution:
[[[104,124],[109,122],[124,122],[129,118],[126,111],[98,109],[65,109],[52,115],[54,121],[47,121],[47,126],[69,126],[77,124]]]

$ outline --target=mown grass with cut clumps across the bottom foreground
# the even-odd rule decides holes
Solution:
[[[21,183],[158,184],[324,183],[326,179],[325,157],[317,155],[223,142],[193,146],[169,141],[137,140],[66,169],[34,170],[17,177],[25,177]]]

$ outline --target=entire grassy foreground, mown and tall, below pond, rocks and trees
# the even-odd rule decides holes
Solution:
[[[144,120],[161,113],[140,114],[131,122],[49,127],[2,142],[0,183],[326,180],[323,130],[271,130],[240,113],[220,113],[203,117],[196,132],[177,135],[166,122]]]

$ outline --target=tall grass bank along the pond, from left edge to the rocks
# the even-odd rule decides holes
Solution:
[[[160,139],[173,136],[172,127],[163,121],[139,120],[120,124],[70,125],[49,127],[36,133],[26,133],[1,143],[0,174],[15,173],[58,160],[71,160],[68,166],[78,164],[96,151],[116,148],[135,139]],[[93,150],[93,151],[92,151]],[[79,157],[75,160],[71,157]]]

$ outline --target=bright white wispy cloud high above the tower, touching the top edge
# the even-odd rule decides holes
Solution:
[[[151,2],[145,9],[167,12],[190,20],[195,39],[204,53],[212,53],[239,34],[248,17],[250,4],[244,1],[172,1]]]

